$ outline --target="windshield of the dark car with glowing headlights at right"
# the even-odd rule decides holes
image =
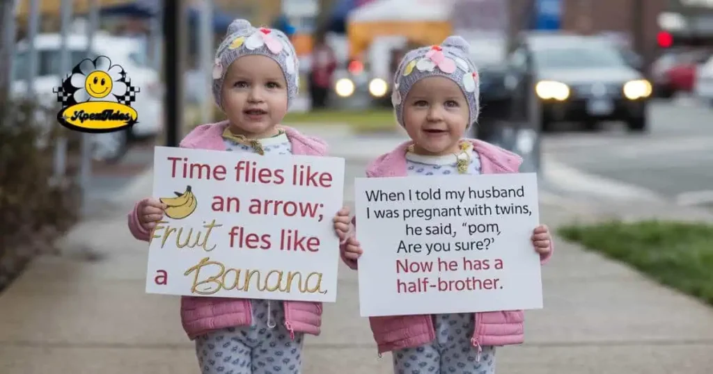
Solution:
[[[545,48],[535,52],[535,61],[546,69],[602,68],[626,64],[620,53],[605,46]]]

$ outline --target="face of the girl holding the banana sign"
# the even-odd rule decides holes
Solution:
[[[228,67],[221,90],[231,130],[242,135],[270,136],[287,113],[287,82],[272,58],[238,58]]]

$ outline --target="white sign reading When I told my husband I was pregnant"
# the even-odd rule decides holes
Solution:
[[[534,173],[357,178],[361,316],[543,307]]]

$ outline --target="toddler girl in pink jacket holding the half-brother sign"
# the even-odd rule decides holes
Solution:
[[[394,78],[396,120],[411,141],[381,155],[367,177],[479,175],[518,172],[518,155],[479,140],[463,139],[478,119],[478,71],[468,43],[450,36],[441,46],[406,53]],[[334,219],[342,259],[357,268],[361,247],[349,219]],[[356,217],[352,219],[356,224]],[[544,263],[552,253],[547,227],[533,230],[533,246]],[[378,251],[369,248],[367,251]],[[495,373],[495,346],[523,342],[523,311],[451,313],[369,318],[379,354],[392,351],[394,373]]]

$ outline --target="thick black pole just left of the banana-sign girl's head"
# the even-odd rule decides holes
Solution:
[[[185,38],[181,38],[182,30],[185,31],[184,0],[163,2],[163,71],[166,85],[165,94],[165,126],[166,145],[177,147],[179,133],[183,128],[183,45]]]

